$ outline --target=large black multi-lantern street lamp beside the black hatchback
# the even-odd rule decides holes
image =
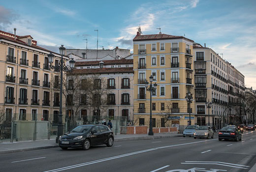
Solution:
[[[57,64],[57,66],[53,65],[54,54],[52,54],[52,53],[48,54],[48,59],[49,59],[49,64],[50,64],[51,69],[58,69],[58,71],[61,71],[60,111],[59,111],[59,116],[58,116],[58,132],[57,132],[58,134],[57,134],[57,138],[56,138],[56,143],[58,143],[59,137],[61,135],[63,135],[63,123],[62,123],[63,71],[64,72],[69,71],[63,61],[65,47],[62,45],[59,49],[60,49],[60,55],[62,56],[62,58],[61,58],[61,62],[59,62],[59,64]],[[75,60],[71,59],[69,61],[69,64],[70,64],[70,68],[72,70],[74,68]]]

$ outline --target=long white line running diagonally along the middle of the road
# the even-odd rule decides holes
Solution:
[[[130,155],[149,152],[149,151],[153,151],[153,150],[158,150],[158,149],[163,149],[163,148],[168,148],[168,147],[188,145],[188,144],[195,144],[195,143],[205,143],[205,142],[211,142],[211,141],[215,141],[215,140],[218,140],[218,139],[198,141],[198,142],[190,142],[190,143],[182,143],[182,144],[173,144],[173,145],[167,145],[167,146],[160,146],[160,147],[155,147],[155,148],[151,148],[151,149],[145,149],[145,150],[140,150],[140,151],[131,152],[131,153],[127,153],[127,154],[117,155],[117,156],[113,156],[113,157],[109,157],[109,158],[99,159],[99,160],[95,160],[95,161],[91,161],[91,162],[76,164],[76,165],[72,165],[72,166],[66,166],[66,167],[63,167],[63,168],[49,170],[49,171],[45,171],[45,172],[60,172],[60,171],[64,171],[64,170],[74,169],[74,168],[78,168],[78,167],[82,167],[82,166],[96,164],[96,163],[100,163],[100,162],[104,162],[104,161],[109,161],[109,160],[113,160],[113,159],[117,159],[117,158],[127,157],[127,156],[130,156]]]

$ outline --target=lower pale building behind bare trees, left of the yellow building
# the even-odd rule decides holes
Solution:
[[[104,118],[120,119],[125,117],[127,121],[133,120],[133,59],[102,59],[100,61],[87,61],[80,59],[75,63],[75,70],[72,75],[80,77],[67,76],[68,87],[75,89],[75,81],[86,83],[91,78],[99,86],[99,91],[87,91],[86,88],[76,88],[77,91],[67,90],[68,97],[66,109],[67,115],[76,114],[76,119],[87,121],[102,120]],[[83,91],[85,89],[85,91]],[[101,91],[101,89],[104,89]],[[82,94],[79,95],[71,95]],[[97,108],[90,103],[92,92],[100,92],[100,101],[104,102]],[[75,100],[76,99],[76,100]],[[80,100],[78,100],[80,99]],[[70,106],[72,105],[72,106]]]

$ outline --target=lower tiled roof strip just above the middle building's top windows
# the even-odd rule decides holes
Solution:
[[[72,74],[133,73],[133,67],[74,69]]]

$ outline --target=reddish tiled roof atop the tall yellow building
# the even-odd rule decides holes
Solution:
[[[191,39],[188,39],[184,36],[174,36],[168,34],[146,34],[146,35],[136,35],[133,38],[133,41],[142,41],[142,40],[157,40],[157,39],[187,39],[194,42]]]

